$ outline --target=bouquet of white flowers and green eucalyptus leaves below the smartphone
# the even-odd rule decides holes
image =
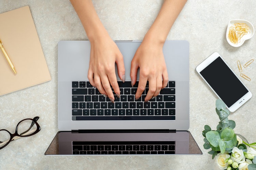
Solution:
[[[221,120],[217,130],[212,130],[209,125],[204,126],[204,149],[211,148],[208,153],[212,159],[215,157],[220,169],[256,170],[256,142],[249,144],[234,133],[236,123],[228,120],[230,112],[220,99],[216,100],[216,113]]]

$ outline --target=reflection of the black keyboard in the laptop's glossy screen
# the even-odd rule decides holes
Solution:
[[[175,154],[175,141],[73,141],[73,154]]]

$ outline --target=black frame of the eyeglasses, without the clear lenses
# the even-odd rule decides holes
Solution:
[[[8,132],[8,133],[10,134],[10,139],[9,139],[9,141],[8,141],[7,143],[5,143],[3,146],[1,146],[1,147],[0,147],[0,150],[3,149],[4,147],[6,147],[11,141],[13,141],[13,140],[14,140],[13,138],[14,138],[15,136],[18,136],[18,137],[29,137],[29,136],[32,136],[32,135],[34,135],[34,134],[37,134],[37,133],[41,130],[41,127],[40,127],[40,125],[39,125],[38,122],[37,122],[38,119],[39,119],[39,117],[36,116],[36,117],[34,117],[33,119],[27,118],[27,119],[21,120],[21,121],[17,124],[15,133],[13,133],[13,134],[12,134],[11,132],[9,132],[8,130],[6,130],[6,129],[0,129],[0,131],[6,131],[6,132]],[[29,129],[28,129],[27,131],[21,133],[21,134],[18,134],[18,126],[19,126],[19,124],[20,124],[21,122],[23,122],[23,121],[26,121],[26,120],[31,120],[31,121],[32,121],[32,123],[31,123]],[[34,124],[37,125],[37,129],[36,129],[33,133],[31,133],[31,134],[23,135],[23,134],[27,133],[28,131],[30,131],[30,129],[32,128],[32,126],[33,126]],[[4,142],[4,141],[2,141],[2,142]],[[2,142],[0,141],[0,144],[1,144]]]

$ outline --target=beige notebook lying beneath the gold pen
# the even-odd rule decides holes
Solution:
[[[51,80],[29,6],[0,14],[0,39],[17,74],[0,50],[0,95]]]

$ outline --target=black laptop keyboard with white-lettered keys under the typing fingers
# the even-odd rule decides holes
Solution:
[[[113,91],[112,103],[89,81],[73,81],[72,120],[175,120],[175,81],[169,81],[149,102],[144,102],[148,82],[139,100],[135,100],[138,82],[133,87],[130,81],[118,81],[118,85],[120,98]]]

